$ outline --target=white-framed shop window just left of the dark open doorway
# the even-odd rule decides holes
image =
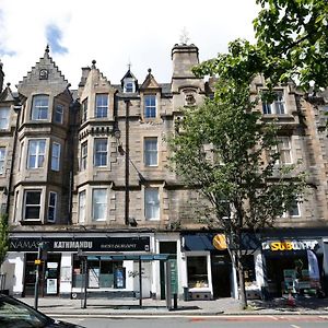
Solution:
[[[188,256],[188,288],[208,288],[208,262],[206,256]]]

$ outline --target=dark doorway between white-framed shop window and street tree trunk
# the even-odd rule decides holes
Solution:
[[[213,297],[231,297],[232,266],[227,255],[212,256]]]

